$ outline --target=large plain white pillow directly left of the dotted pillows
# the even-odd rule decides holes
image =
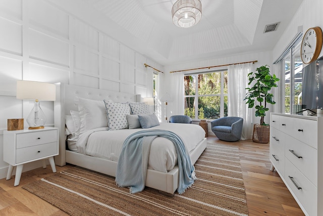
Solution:
[[[80,112],[81,134],[90,129],[107,127],[106,110],[103,101],[79,97],[75,97],[74,101],[78,105]]]

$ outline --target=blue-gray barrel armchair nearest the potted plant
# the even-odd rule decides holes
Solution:
[[[223,141],[234,142],[241,138],[243,118],[223,117],[211,121],[212,132]]]

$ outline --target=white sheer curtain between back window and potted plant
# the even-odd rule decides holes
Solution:
[[[246,97],[251,68],[252,63],[228,67],[228,116],[243,118],[241,140],[252,139],[252,109],[243,100]]]

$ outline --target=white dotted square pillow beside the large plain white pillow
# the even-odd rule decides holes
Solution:
[[[128,103],[117,103],[104,100],[109,130],[128,128],[127,115],[130,114]]]

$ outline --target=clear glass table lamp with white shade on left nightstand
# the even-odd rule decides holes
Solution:
[[[56,85],[46,82],[18,80],[17,99],[35,100],[34,107],[26,119],[29,125],[28,129],[44,128],[47,118],[39,106],[39,101],[55,101]]]

